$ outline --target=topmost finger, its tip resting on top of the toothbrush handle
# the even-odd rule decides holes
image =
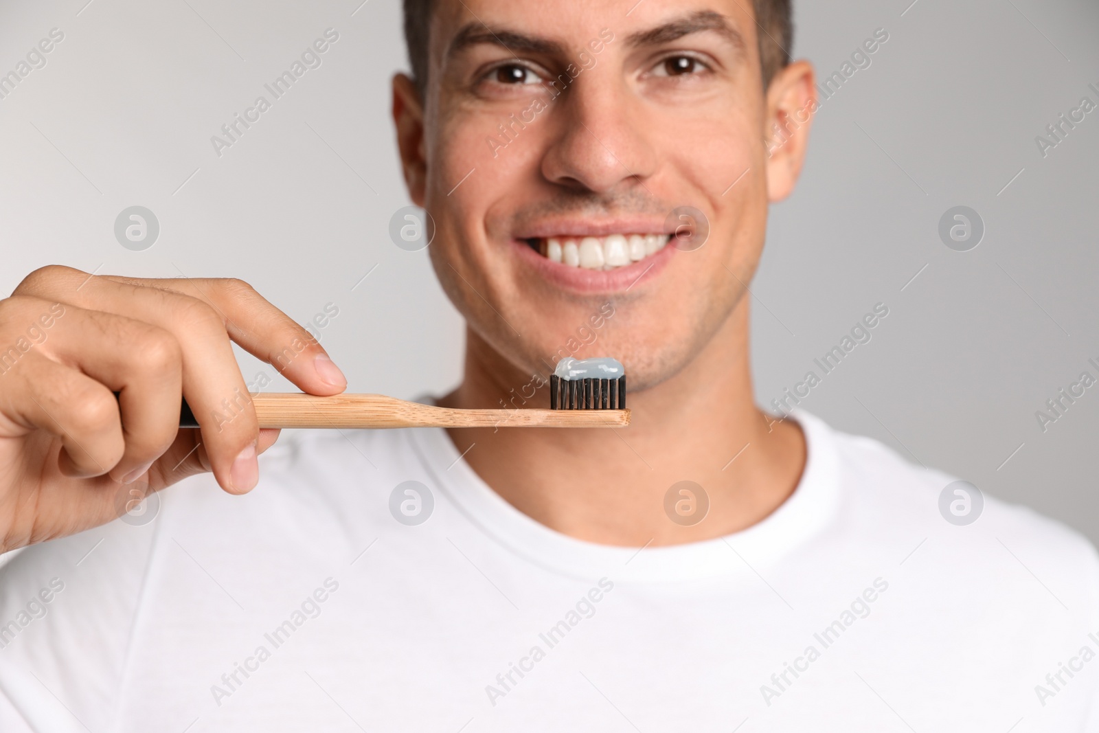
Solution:
[[[347,388],[343,371],[309,331],[237,279],[142,280],[106,276],[116,282],[167,287],[213,308],[230,337],[267,362],[310,395],[337,395]]]

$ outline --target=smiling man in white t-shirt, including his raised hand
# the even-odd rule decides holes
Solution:
[[[1099,730],[1088,543],[753,406],[745,284],[814,109],[786,2],[406,11],[401,160],[468,324],[439,402],[607,355],[633,424],[315,431],[260,480],[230,342],[337,393],[317,343],[238,281],[38,270],[0,303],[0,343],[45,334],[0,377],[34,545],[0,729]]]

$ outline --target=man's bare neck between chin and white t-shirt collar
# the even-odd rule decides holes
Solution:
[[[745,300],[679,374],[642,392],[628,391],[629,427],[452,429],[451,440],[509,503],[580,540],[669,545],[743,530],[790,496],[806,462],[800,429],[755,407],[747,322]],[[484,408],[512,399],[497,376],[501,363],[468,332],[465,377],[441,403]],[[629,376],[628,369],[628,384]],[[540,389],[528,407],[547,406],[547,391]],[[685,480],[701,491],[677,487],[666,501],[673,485]],[[707,499],[709,510],[699,521]]]

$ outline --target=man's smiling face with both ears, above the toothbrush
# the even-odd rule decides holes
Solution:
[[[634,391],[706,347],[808,129],[785,122],[811,70],[765,93],[756,27],[739,0],[436,0],[424,105],[399,77],[395,116],[435,271],[479,344],[526,374],[613,356]]]

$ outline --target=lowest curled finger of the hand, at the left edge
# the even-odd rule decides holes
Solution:
[[[3,377],[12,380],[12,389],[0,390],[0,413],[8,426],[58,436],[63,449],[57,465],[66,476],[111,470],[125,449],[119,403],[111,390],[41,354],[26,354],[23,364]]]

